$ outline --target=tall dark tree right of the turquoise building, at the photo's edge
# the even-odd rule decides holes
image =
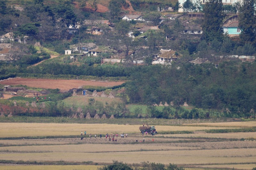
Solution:
[[[256,47],[255,0],[244,0],[239,13],[240,38],[244,43],[252,43]]]

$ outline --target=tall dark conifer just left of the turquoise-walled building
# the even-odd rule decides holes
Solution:
[[[222,20],[225,16],[222,0],[206,1],[203,11],[204,23],[202,28],[204,39],[208,41],[212,41],[214,39],[222,41],[224,38]]]

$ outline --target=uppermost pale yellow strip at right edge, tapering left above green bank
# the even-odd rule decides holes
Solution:
[[[214,126],[214,127],[256,127],[256,121],[248,122],[220,122],[220,123],[191,123],[184,125],[200,125],[200,126]]]

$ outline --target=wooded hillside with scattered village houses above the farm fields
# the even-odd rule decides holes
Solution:
[[[255,8],[247,1],[1,0],[0,79],[46,74],[128,79],[125,103],[255,109],[230,89],[232,82],[241,88],[235,75],[254,74]],[[237,102],[216,95],[216,85]],[[192,95],[200,89],[200,97]],[[244,101],[253,95],[244,95]],[[210,99],[214,103],[206,102]]]

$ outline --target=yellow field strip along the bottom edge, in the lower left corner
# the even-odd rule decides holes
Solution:
[[[8,170],[98,170],[96,165],[1,165],[0,169]]]

